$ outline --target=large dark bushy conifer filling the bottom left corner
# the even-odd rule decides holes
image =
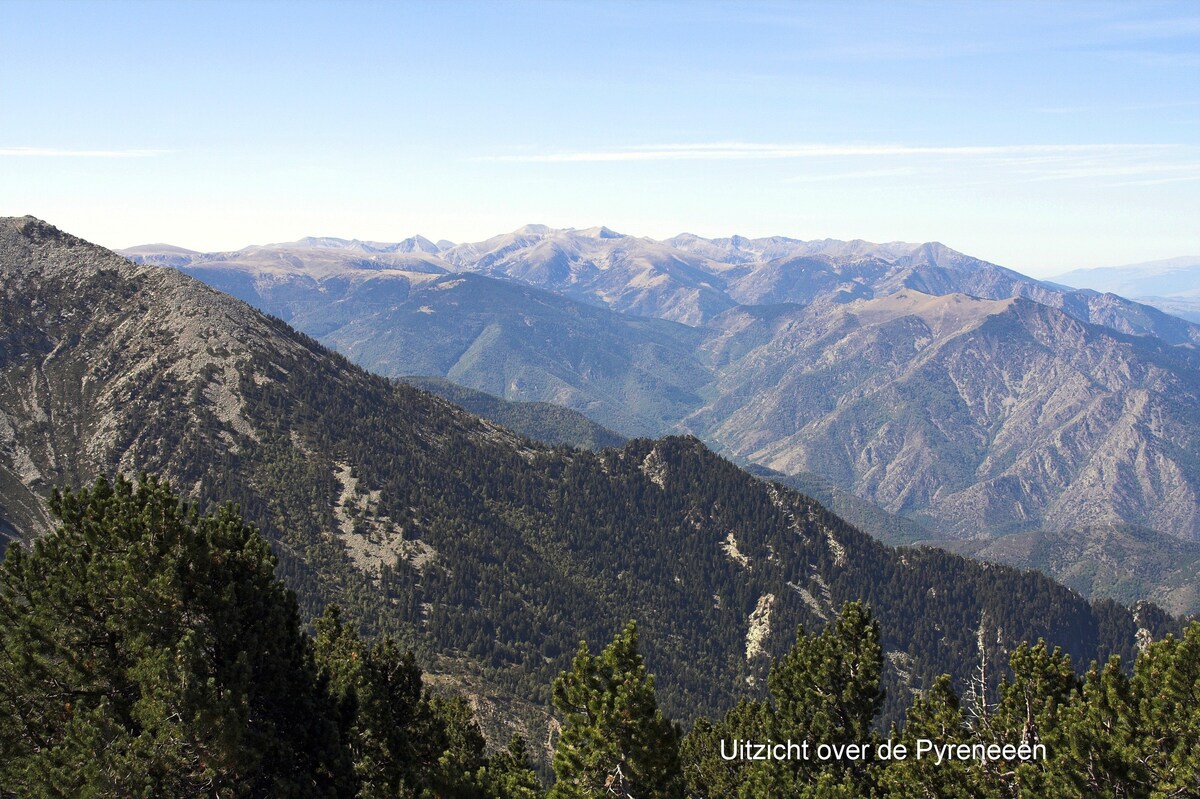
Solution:
[[[295,602],[233,507],[143,477],[50,509],[0,564],[0,789],[352,795]]]

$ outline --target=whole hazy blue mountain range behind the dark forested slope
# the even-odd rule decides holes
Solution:
[[[124,254],[380,374],[694,434],[932,540],[1129,525],[1200,540],[1200,326],[936,242],[527,226]]]

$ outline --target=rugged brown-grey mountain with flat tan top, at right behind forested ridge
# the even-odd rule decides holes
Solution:
[[[916,292],[728,323],[714,352],[750,343],[688,423],[737,455],[954,536],[1120,522],[1200,536],[1190,348]]]

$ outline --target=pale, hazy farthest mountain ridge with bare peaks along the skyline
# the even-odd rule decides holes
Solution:
[[[160,257],[150,245],[125,254],[142,263],[178,266],[166,263],[178,257],[174,250]],[[402,258],[406,254],[414,258]],[[902,288],[992,300],[1026,296],[1120,332],[1154,335],[1170,343],[1200,343],[1200,326],[1156,308],[1037,281],[940,242],[703,239],[691,234],[655,241],[605,227],[576,230],[529,224],[485,241],[457,245],[434,245],[422,236],[398,244],[308,238],[200,254],[193,264],[262,276],[280,275],[282,264],[292,264],[299,274],[331,276],[341,264],[341,276],[348,280],[364,269],[476,272],[692,326],[737,305],[870,298]]]

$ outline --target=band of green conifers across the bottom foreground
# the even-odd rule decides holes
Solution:
[[[1060,649],[1022,643],[997,690],[979,680],[960,698],[941,677],[912,696],[902,735],[893,727],[888,739],[876,723],[882,631],[862,602],[820,633],[799,630],[766,697],[700,717],[686,735],[658,705],[630,621],[598,655],[581,644],[553,681],[562,726],[547,739],[546,791],[522,735],[488,747],[470,704],[431,689],[395,641],[365,639],[337,606],[305,635],[268,542],[230,505],[202,515],[143,476],[55,492],[50,507],[54,531],[0,563],[6,798],[136,788],[293,799],[1148,799],[1200,789],[1200,708],[1188,702],[1200,684],[1200,621],[1144,642],[1132,669],[1114,657],[1082,678]],[[770,741],[775,755],[763,758]]]

